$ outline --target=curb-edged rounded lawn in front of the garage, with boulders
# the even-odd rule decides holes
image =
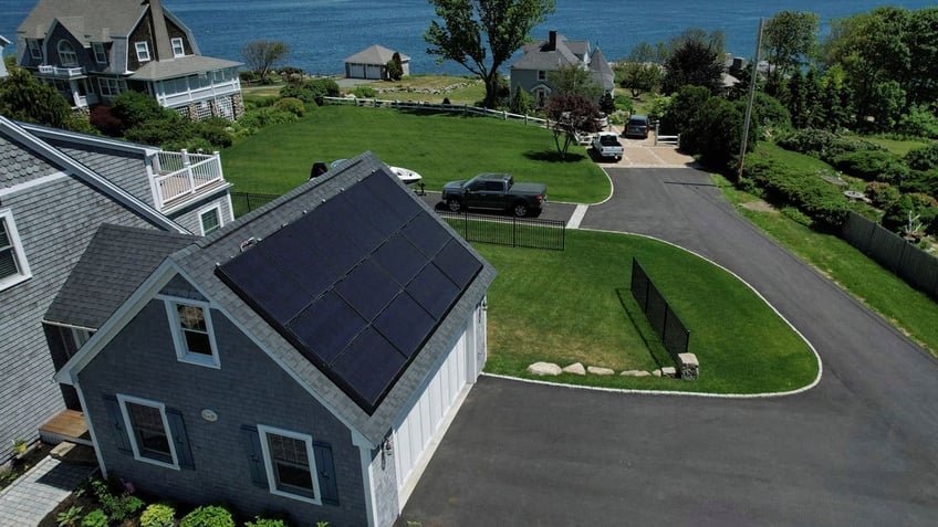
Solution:
[[[673,366],[629,292],[637,256],[690,330],[696,381],[630,377],[560,382],[718,393],[786,391],[812,382],[807,345],[729,273],[671,245],[625,234],[567,232],[566,251],[477,244],[499,270],[489,291],[487,371],[531,376],[536,361],[653,370]]]

